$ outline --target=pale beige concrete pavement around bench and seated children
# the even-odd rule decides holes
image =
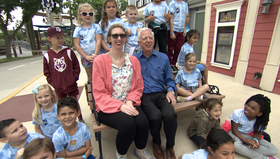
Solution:
[[[1,57],[1,56],[0,56]],[[79,59],[80,61],[80,59]],[[83,86],[85,82],[87,82],[87,75],[85,72],[85,69],[83,69],[80,61],[80,67],[81,67],[81,74],[80,74],[80,80],[78,80],[78,86]],[[220,125],[223,125],[225,120],[230,120],[229,117],[232,114],[232,112],[235,109],[244,108],[244,103],[248,98],[250,98],[252,95],[255,94],[264,94],[265,96],[268,96],[271,100],[271,113],[270,113],[270,121],[269,125],[267,127],[267,132],[270,137],[272,144],[274,144],[278,150],[280,149],[280,138],[279,138],[279,121],[280,117],[278,115],[278,112],[280,112],[280,96],[277,94],[272,94],[266,91],[261,91],[259,89],[254,89],[252,87],[248,87],[245,85],[234,83],[234,77],[230,77],[227,75],[222,75],[216,72],[209,71],[209,84],[216,85],[220,89],[220,93],[224,94],[226,96],[225,99],[223,99],[223,113],[220,117],[221,123]],[[45,84],[47,83],[46,77],[41,76],[34,82],[32,82],[29,86],[24,88],[22,91],[20,91],[16,96],[18,95],[24,95],[24,94],[30,94],[31,90],[33,89],[35,84]],[[81,106],[81,111],[83,114],[83,118],[88,124],[88,128],[90,129],[90,132],[92,134],[91,143],[93,146],[92,154],[99,155],[99,146],[98,141],[95,141],[95,133],[93,132],[93,128],[91,125],[91,119],[90,119],[90,108],[87,103],[85,90],[83,90],[81,97],[79,99],[79,103]],[[187,136],[187,128],[191,122],[191,120],[195,117],[195,108],[190,108],[187,110],[183,110],[180,112],[177,112],[177,121],[178,121],[178,128],[176,132],[175,137],[175,155],[178,156],[182,155],[184,153],[192,153],[195,151],[198,146],[188,139]],[[13,112],[7,112],[7,113],[13,113]],[[16,117],[15,117],[16,118]],[[34,125],[32,125],[32,122],[25,122],[23,123],[25,127],[27,127],[28,132],[35,132],[34,131]],[[161,129],[161,138],[162,138],[162,145],[165,148],[165,142],[166,138],[164,135],[163,128]],[[117,135],[117,130],[110,129],[101,132],[101,138],[102,138],[102,150],[103,150],[103,156],[104,159],[113,159],[115,158],[115,152],[116,152],[116,146],[115,146],[115,138]],[[3,144],[0,144],[0,148],[3,146]],[[152,147],[152,137],[149,135],[148,142],[147,142],[147,149],[151,155],[153,155],[153,147]],[[136,157],[133,155],[133,148],[134,143],[130,146],[128,152],[127,152],[127,158],[129,159],[136,159]],[[276,157],[280,158],[280,155],[276,155]],[[241,156],[236,153],[236,159],[245,159],[246,157]]]

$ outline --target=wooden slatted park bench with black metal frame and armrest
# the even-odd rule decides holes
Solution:
[[[209,87],[210,87],[209,91],[206,92],[206,95],[209,98],[218,98],[220,100],[225,98],[225,95],[221,95],[219,93],[218,87],[211,86],[211,85],[209,85]],[[99,143],[100,159],[103,159],[102,147],[101,147],[101,131],[108,130],[108,129],[113,129],[113,128],[111,128],[111,127],[109,127],[105,124],[102,124],[99,121],[99,113],[97,113],[95,111],[96,107],[95,107],[95,101],[94,101],[94,98],[93,98],[93,95],[92,95],[92,84],[91,84],[91,82],[88,81],[88,83],[85,83],[85,91],[86,91],[87,98],[88,98],[88,105],[90,106],[90,110],[92,112],[90,114],[90,117],[91,117],[91,121],[92,121],[93,131],[95,132],[95,139]],[[201,103],[200,101],[195,101],[195,100],[188,101],[188,102],[176,103],[176,105],[174,106],[174,110],[175,110],[175,112],[178,112],[178,111],[181,111],[181,110],[185,110],[185,109],[188,109],[188,108],[199,106],[200,103]]]

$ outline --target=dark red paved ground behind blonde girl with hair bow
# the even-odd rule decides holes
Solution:
[[[79,95],[83,91],[84,86],[78,87]],[[34,95],[27,94],[22,96],[15,96],[0,105],[0,121],[10,118],[15,118],[20,122],[32,121],[32,112],[34,110]]]

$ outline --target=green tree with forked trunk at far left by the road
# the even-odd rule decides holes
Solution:
[[[62,0],[56,0],[56,2],[60,5],[57,7],[54,12],[58,12],[62,7]],[[11,15],[12,11],[17,10],[17,8],[22,9],[22,20],[16,20],[13,15]],[[12,58],[11,42],[20,28],[24,25],[24,23],[29,23],[34,16],[34,14],[38,10],[42,10],[42,4],[40,0],[0,0],[0,30],[4,34],[5,45],[6,45],[6,58]],[[8,34],[8,25],[11,23],[16,23],[15,31],[12,31],[12,34]]]

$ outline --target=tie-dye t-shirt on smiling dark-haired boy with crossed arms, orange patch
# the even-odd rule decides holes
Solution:
[[[55,145],[56,152],[64,149],[68,151],[76,151],[85,146],[85,142],[91,138],[90,130],[87,125],[76,122],[78,130],[75,135],[69,135],[62,127],[62,125],[53,134],[53,144]]]

